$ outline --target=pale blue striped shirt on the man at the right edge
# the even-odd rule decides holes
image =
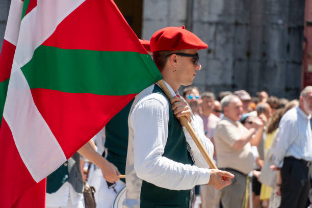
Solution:
[[[273,161],[279,168],[285,157],[312,161],[311,115],[306,115],[298,106],[283,115],[276,135]]]

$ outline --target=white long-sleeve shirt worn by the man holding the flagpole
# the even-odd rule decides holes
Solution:
[[[167,86],[175,96],[176,93]],[[210,179],[209,165],[185,127],[186,142],[191,147],[196,166],[177,163],[162,156],[168,137],[170,103],[163,95],[152,93],[153,89],[154,85],[137,95],[128,117],[127,192],[124,207],[139,206],[142,180],[166,189],[188,190],[195,185],[207,184]],[[213,157],[213,144],[199,131],[193,119],[191,125]]]

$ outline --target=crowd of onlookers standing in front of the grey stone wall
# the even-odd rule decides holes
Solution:
[[[308,98],[311,91],[312,87],[307,87],[302,91],[300,101],[297,99],[289,101],[276,96],[269,97],[266,91],[259,91],[254,97],[245,90],[224,91],[216,97],[213,92],[200,93],[195,86],[184,89],[183,96],[189,103],[196,122],[206,137],[214,143],[214,160],[218,168],[235,175],[231,185],[220,191],[207,185],[201,186],[201,207],[242,207],[244,203],[246,205],[244,207],[248,207],[246,188],[249,187],[252,187],[250,196],[252,207],[308,207],[312,200],[312,190],[310,193],[308,191],[308,178],[312,177],[312,167],[309,164],[312,159],[309,136],[312,120],[310,124],[307,121],[310,119],[308,114],[312,104],[309,103],[310,110],[305,110],[307,112],[305,114],[300,110],[300,106],[304,109],[303,99],[311,99]],[[299,115],[302,114],[306,118],[304,123],[298,121],[296,113],[293,112],[289,120],[292,120],[295,126],[286,128],[282,124],[279,126],[283,115],[293,108],[292,111],[297,110],[300,112]],[[293,155],[287,151],[301,135],[300,132],[296,132],[297,129],[300,131],[300,128],[303,128],[301,131],[306,133],[306,137],[302,135],[302,142],[295,147],[298,151]],[[269,148],[274,149],[273,154],[268,155]],[[262,175],[261,169],[265,160],[272,158],[279,159],[273,163],[279,168],[271,167],[270,171],[277,173],[276,183],[268,186],[261,183],[259,177]],[[290,163],[289,166],[303,164],[304,169],[295,169],[293,173],[299,177],[298,180],[290,178],[289,175],[284,176],[285,179],[282,180],[279,169],[283,166],[279,163],[283,160]],[[252,186],[246,184],[248,175]],[[266,177],[265,173],[263,177]],[[266,178],[263,180],[267,181]],[[296,184],[296,180],[299,184]]]

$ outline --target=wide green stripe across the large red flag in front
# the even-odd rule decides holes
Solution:
[[[136,52],[39,46],[21,68],[31,89],[127,95],[162,79],[151,57]]]

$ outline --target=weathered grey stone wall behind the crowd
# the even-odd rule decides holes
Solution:
[[[201,91],[245,89],[250,94],[297,98],[301,83],[304,1],[144,0],[143,38],[169,25],[186,24],[209,48],[200,51]]]

